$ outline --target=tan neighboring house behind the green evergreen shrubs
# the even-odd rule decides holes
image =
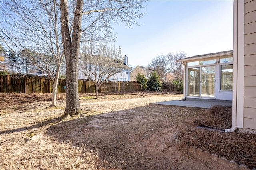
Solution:
[[[147,79],[150,77],[150,74],[152,74],[155,71],[154,68],[151,67],[144,67],[144,66],[137,66],[135,69],[131,72],[131,81],[137,81],[136,76],[138,73],[144,75]],[[163,81],[166,82],[166,75],[163,75]]]

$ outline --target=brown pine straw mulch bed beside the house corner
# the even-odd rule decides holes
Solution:
[[[231,106],[213,106],[194,120],[191,125],[183,127],[178,133],[180,144],[201,148],[211,154],[224,156],[249,168],[256,168],[256,134],[233,132],[223,133],[216,130],[196,128],[198,125],[226,129],[232,125]]]

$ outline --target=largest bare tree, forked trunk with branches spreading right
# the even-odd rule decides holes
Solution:
[[[124,22],[127,26],[132,26],[136,18],[142,17],[140,8],[145,0],[78,0],[73,1],[74,8],[68,8],[68,0],[60,0],[61,13],[61,34],[66,58],[66,109],[64,117],[67,115],[79,115],[81,112],[78,97],[78,57],[80,53],[80,40],[82,32],[94,30],[94,28],[106,28],[105,34],[111,33],[111,22]],[[72,24],[70,16],[72,14]],[[82,25],[83,23],[83,25]],[[86,25],[86,26],[85,26]],[[87,29],[88,28],[88,29]],[[95,39],[97,32],[90,34],[88,40]],[[83,34],[84,35],[84,34]],[[86,35],[86,34],[85,34]],[[83,37],[84,38],[84,37]],[[92,38],[92,40],[90,40]],[[104,39],[104,36],[103,38]]]

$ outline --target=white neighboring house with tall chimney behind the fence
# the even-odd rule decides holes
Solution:
[[[130,67],[128,66],[128,56],[126,55],[124,56],[124,63],[121,68],[122,71],[120,73],[112,75],[107,81],[130,81]],[[78,79],[88,80],[89,78],[79,69]]]

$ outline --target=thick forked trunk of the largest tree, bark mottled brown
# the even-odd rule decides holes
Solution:
[[[83,1],[76,1],[72,40],[69,33],[68,1],[60,1],[61,35],[66,59],[66,108],[63,117],[80,115],[78,95],[78,56],[80,50]]]

